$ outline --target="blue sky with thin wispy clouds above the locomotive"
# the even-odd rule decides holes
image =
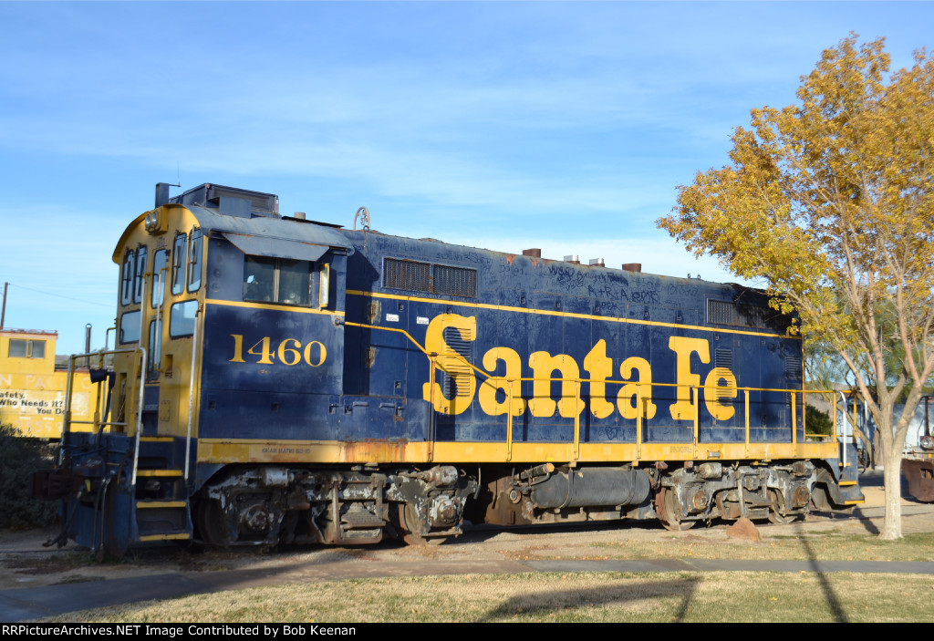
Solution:
[[[0,2],[6,326],[57,329],[65,353],[92,323],[99,346],[120,232],[179,179],[735,280],[656,228],[675,188],[851,31],[899,68],[931,24],[924,2]]]

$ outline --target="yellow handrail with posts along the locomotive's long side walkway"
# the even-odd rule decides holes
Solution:
[[[446,369],[446,368],[444,367],[444,365],[438,363],[438,356],[439,356],[439,354],[434,353],[434,352],[432,352],[432,353],[428,352],[428,351],[421,345],[421,343],[419,343],[418,341],[416,341],[415,338],[413,338],[412,335],[409,334],[408,331],[406,331],[405,329],[402,329],[402,328],[399,328],[399,327],[380,327],[380,326],[378,326],[378,325],[369,325],[369,324],[366,324],[366,323],[356,323],[356,322],[353,322],[353,321],[345,321],[345,322],[344,322],[344,325],[347,325],[347,326],[349,326],[349,327],[361,327],[361,328],[366,328],[366,329],[378,329],[378,330],[381,330],[381,331],[389,331],[389,332],[395,332],[395,333],[402,334],[406,339],[408,339],[408,341],[410,341],[413,345],[415,345],[415,346],[417,347],[418,351],[420,351],[422,354],[424,354],[424,355],[426,355],[426,356],[428,357],[429,362],[430,362],[430,370],[429,370],[429,371],[430,371],[430,374],[429,374],[429,382],[430,382],[430,383],[434,383],[434,381],[435,381],[435,374],[436,374],[437,369],[441,369],[442,371],[446,372],[446,373],[447,373],[448,375],[450,375],[450,376],[457,376],[458,374],[461,374],[461,373],[462,373],[462,372],[459,372],[459,371],[450,371],[450,370]],[[531,382],[531,383],[535,383],[535,382],[548,382],[549,384],[550,384],[550,383],[556,383],[556,382],[557,382],[557,383],[562,383],[562,385],[563,385],[564,383],[573,383],[573,385],[574,385],[573,402],[574,402],[574,409],[575,409],[574,415],[573,415],[573,421],[574,421],[573,454],[574,454],[574,458],[575,458],[575,459],[580,457],[581,413],[582,413],[582,411],[583,411],[583,404],[582,404],[582,397],[581,397],[581,388],[582,388],[583,383],[600,383],[600,384],[603,384],[603,385],[633,385],[633,384],[635,385],[635,395],[634,395],[634,397],[636,398],[636,402],[637,402],[637,403],[639,404],[639,406],[640,406],[640,407],[638,407],[638,408],[636,409],[636,415],[635,415],[635,419],[636,419],[636,442],[635,442],[635,446],[636,446],[636,456],[637,456],[637,457],[640,457],[640,458],[642,457],[642,453],[643,453],[643,443],[644,443],[644,439],[643,439],[644,420],[649,420],[649,419],[646,419],[646,418],[645,418],[645,417],[647,416],[647,414],[648,414],[648,411],[647,411],[647,403],[651,401],[651,395],[644,394],[644,388],[645,388],[645,387],[648,387],[649,390],[651,390],[651,389],[653,389],[653,388],[656,388],[656,387],[670,387],[670,388],[676,388],[676,389],[684,389],[684,388],[687,388],[688,390],[690,390],[690,392],[689,392],[689,397],[690,397],[690,399],[691,399],[690,402],[691,402],[691,406],[692,406],[692,408],[693,408],[693,416],[691,417],[691,418],[692,418],[692,423],[693,423],[693,429],[692,429],[692,445],[693,445],[693,452],[694,452],[693,455],[694,455],[695,457],[697,457],[697,455],[698,455],[698,453],[699,453],[699,448],[700,448],[700,445],[701,445],[701,440],[700,440],[700,435],[701,435],[700,393],[701,393],[701,390],[720,390],[720,391],[722,391],[722,390],[725,389],[725,388],[724,388],[723,386],[721,386],[721,385],[686,385],[686,384],[684,384],[684,383],[654,383],[654,382],[653,382],[653,383],[634,383],[634,382],[632,382],[632,381],[623,381],[623,380],[615,380],[615,379],[592,379],[592,378],[583,378],[583,377],[568,378],[568,377],[527,377],[527,376],[522,376],[522,377],[512,377],[512,378],[510,378],[510,377],[506,377],[506,376],[495,376],[495,375],[493,375],[493,374],[490,374],[488,371],[486,371],[486,370],[484,370],[484,369],[479,369],[479,368],[477,368],[473,363],[471,363],[471,362],[468,361],[466,358],[464,358],[463,356],[461,356],[461,355],[459,355],[459,354],[457,354],[457,353],[446,354],[445,357],[446,357],[446,358],[453,358],[453,359],[455,359],[455,360],[458,360],[458,361],[460,361],[460,364],[466,365],[468,368],[473,369],[477,374],[480,374],[480,375],[483,377],[484,380],[483,380],[482,382],[480,382],[479,384],[490,384],[490,385],[493,385],[493,386],[494,386],[495,388],[497,388],[497,389],[500,389],[500,384],[501,384],[501,383],[504,384],[504,385],[506,385],[506,388],[507,388],[506,406],[505,406],[506,409],[505,409],[505,411],[504,411],[503,413],[506,414],[506,439],[505,439],[506,456],[505,456],[505,458],[506,458],[507,461],[512,460],[512,453],[513,453],[513,417],[514,417],[514,413],[513,413],[512,408],[513,408],[513,399],[514,399],[514,397],[515,397],[514,387],[515,387],[515,384],[516,384],[516,383],[518,383],[520,386],[521,386],[522,383],[528,383],[528,382]],[[495,381],[495,383],[494,383],[494,381]],[[781,394],[787,394],[787,395],[790,396],[790,405],[791,405],[791,443],[792,443],[793,446],[798,444],[798,405],[799,405],[799,396],[800,396],[800,404],[801,404],[801,406],[802,406],[801,417],[802,417],[803,424],[804,424],[804,425],[803,425],[803,437],[804,437],[805,440],[806,440],[806,439],[821,439],[821,440],[824,440],[824,441],[837,441],[838,439],[841,439],[841,438],[842,438],[843,440],[845,440],[845,438],[846,438],[846,436],[847,436],[847,435],[845,434],[845,429],[844,429],[844,434],[842,434],[842,435],[841,435],[841,434],[838,434],[838,432],[837,432],[837,423],[836,423],[836,421],[834,421],[834,424],[833,424],[833,433],[830,434],[830,435],[814,434],[814,433],[809,434],[809,433],[807,432],[807,417],[806,417],[806,413],[807,413],[807,412],[805,411],[806,404],[804,403],[805,395],[807,395],[807,394],[816,394],[816,395],[828,395],[828,394],[829,394],[829,395],[831,395],[831,397],[834,398],[834,415],[836,416],[836,412],[837,412],[837,401],[836,401],[836,398],[837,398],[837,397],[836,397],[836,395],[837,395],[837,393],[839,392],[839,390],[819,390],[819,389],[807,390],[807,389],[803,389],[803,388],[800,389],[800,390],[796,390],[796,389],[782,389],[782,388],[772,388],[772,387],[739,387],[739,386],[737,386],[737,387],[731,387],[731,388],[729,388],[729,389],[733,389],[733,390],[735,390],[737,393],[740,393],[740,392],[743,393],[743,409],[744,409],[744,411],[743,411],[743,424],[744,424],[744,425],[743,425],[743,428],[744,428],[743,431],[744,431],[744,451],[745,451],[746,455],[749,455],[749,453],[750,453],[750,451],[751,451],[751,443],[752,443],[752,441],[751,441],[751,439],[750,439],[750,430],[752,429],[752,426],[750,425],[750,416],[751,416],[751,411],[750,411],[750,403],[751,403],[750,395],[751,395],[751,393],[756,393],[756,392],[781,393]],[[434,384],[430,385],[430,390],[431,390],[431,391],[430,391],[431,397],[429,398],[429,401],[431,402],[432,408],[433,408],[433,407],[434,407],[434,394],[435,394],[435,385],[434,385]],[[852,390],[846,390],[845,392],[846,392],[846,393],[849,393],[849,394],[854,394],[854,392],[853,392]],[[561,398],[562,398],[562,399],[565,398],[565,396],[564,396],[564,394],[563,394],[563,391],[562,391]],[[435,412],[432,411],[432,417],[434,416],[434,413],[435,413]],[[516,415],[520,415],[520,414],[521,414],[521,412],[519,412],[519,414],[516,414]],[[854,403],[854,417],[856,417],[856,403]],[[433,422],[433,420],[432,420],[432,423],[431,423],[431,425],[430,425],[429,435],[428,435],[428,440],[429,440],[429,445],[428,445],[428,447],[429,447],[429,460],[430,460],[430,461],[433,460],[433,443],[434,443],[434,433],[433,433],[433,432],[434,432],[434,429],[433,429],[433,426],[434,426],[434,422]],[[856,443],[856,435],[854,434],[854,435],[852,435],[852,436],[853,436],[853,441],[854,441],[854,443]],[[843,450],[843,465],[844,465],[844,467],[845,467],[845,464],[846,464],[846,461],[845,461],[845,457],[846,457],[846,448],[844,447],[844,448],[842,448],[842,450]]]

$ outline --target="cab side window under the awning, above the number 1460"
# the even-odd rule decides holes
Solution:
[[[311,300],[308,260],[248,256],[243,267],[243,300],[308,306]]]

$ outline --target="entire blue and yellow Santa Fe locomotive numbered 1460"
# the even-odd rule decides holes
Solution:
[[[277,209],[160,184],[124,231],[96,424],[66,412],[35,480],[62,540],[435,543],[862,500],[852,443],[806,433],[801,341],[757,290]]]

